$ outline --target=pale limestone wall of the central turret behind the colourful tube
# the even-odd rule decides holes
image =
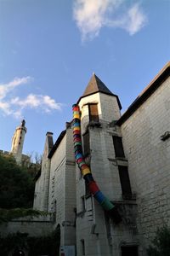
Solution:
[[[88,118],[88,102],[98,102],[99,126],[90,125]],[[88,129],[90,155],[88,163],[99,189],[111,200],[122,203],[122,188],[118,172],[112,136],[120,136],[121,131],[113,123],[119,119],[120,110],[116,97],[97,93],[81,99],[82,134]],[[121,160],[119,160],[121,161]],[[127,165],[127,160],[121,161]],[[135,225],[136,204],[124,202],[123,212],[133,218]],[[131,210],[129,210],[131,209]],[[139,237],[125,220],[121,224],[113,224],[106,218],[104,209],[91,195],[86,195],[85,183],[77,168],[77,254],[82,255],[84,246],[86,255],[121,255],[122,242],[126,245],[139,245]],[[141,253],[139,255],[142,255]]]

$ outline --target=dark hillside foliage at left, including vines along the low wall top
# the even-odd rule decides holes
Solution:
[[[12,155],[0,154],[0,224],[13,218],[39,216],[45,212],[31,209],[34,197],[34,177],[41,168],[36,163],[18,166]]]

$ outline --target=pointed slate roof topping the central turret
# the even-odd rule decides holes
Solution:
[[[82,94],[82,96],[79,98],[78,102],[80,102],[80,100],[83,98],[83,97],[86,97],[86,96],[90,96],[90,95],[93,95],[94,93],[96,92],[102,92],[102,93],[105,93],[107,95],[111,95],[111,96],[116,96],[115,94],[113,94],[111,92],[111,90],[109,90],[107,88],[107,86],[96,76],[95,73],[93,73],[93,76],[92,78],[90,79],[89,83],[88,83],[88,86],[86,87],[86,90],[84,90],[84,93]],[[117,98],[117,102],[119,104],[119,108],[122,109],[122,106],[121,106],[121,102],[119,101],[119,98],[118,96],[116,96]],[[77,102],[77,103],[78,103]]]

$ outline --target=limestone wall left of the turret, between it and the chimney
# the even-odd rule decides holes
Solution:
[[[55,212],[55,225],[61,228],[61,246],[76,244],[76,173],[72,130],[66,130],[52,159],[50,169],[49,212]]]

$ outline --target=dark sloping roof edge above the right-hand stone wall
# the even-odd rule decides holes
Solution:
[[[170,62],[167,62],[156,75],[156,77],[146,86],[146,88],[139,94],[134,102],[127,108],[127,111],[122,114],[122,117],[117,120],[116,125],[122,125],[151,95],[157,88],[170,76]]]

